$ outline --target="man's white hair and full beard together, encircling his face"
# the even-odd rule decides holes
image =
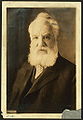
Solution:
[[[30,54],[28,55],[28,62],[33,66],[36,66],[38,64],[42,66],[47,66],[47,67],[53,66],[58,57],[57,36],[59,34],[59,25],[57,21],[53,19],[48,13],[41,12],[38,14],[35,20],[32,21],[31,24],[29,25],[28,30],[29,30],[31,39],[32,39],[32,34],[34,33],[34,30],[33,30],[34,26],[36,26],[36,24],[38,23],[39,25],[42,25],[43,23],[45,23],[51,26],[54,39],[55,39],[55,45],[54,45],[54,48],[52,49],[48,48],[48,54],[37,55],[35,51],[34,42],[32,41],[30,44]]]

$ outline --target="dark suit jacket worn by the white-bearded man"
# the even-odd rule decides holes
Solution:
[[[75,109],[75,65],[59,55],[54,66],[31,84],[35,68],[27,62],[18,71],[9,109],[17,112],[60,113]]]

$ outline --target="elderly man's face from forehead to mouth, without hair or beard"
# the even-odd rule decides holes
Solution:
[[[49,24],[41,23],[34,25],[31,34],[31,45],[37,54],[47,54],[48,49],[53,49],[55,39]]]

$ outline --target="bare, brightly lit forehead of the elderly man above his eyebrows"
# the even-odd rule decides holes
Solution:
[[[31,35],[51,33],[52,27],[48,22],[34,22],[30,31]]]

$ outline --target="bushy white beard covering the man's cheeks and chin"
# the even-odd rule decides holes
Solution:
[[[34,48],[34,45],[31,45],[30,47],[30,53],[28,55],[28,62],[32,66],[41,65],[42,67],[49,67],[53,66],[56,62],[56,59],[58,57],[58,47],[57,44],[54,46],[54,48],[46,48],[47,53],[44,53],[43,51],[39,51],[39,48]]]

